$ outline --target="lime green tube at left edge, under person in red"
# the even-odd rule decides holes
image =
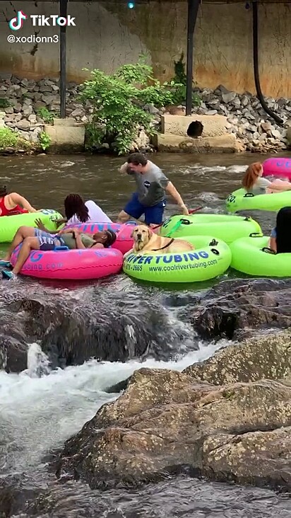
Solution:
[[[56,210],[43,209],[39,212],[28,212],[25,214],[17,214],[16,216],[0,217],[0,243],[11,243],[14,235],[20,226],[36,226],[35,219],[41,219],[42,223],[48,230],[56,230],[56,219],[62,216]]]

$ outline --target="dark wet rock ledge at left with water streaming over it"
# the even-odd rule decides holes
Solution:
[[[148,306],[143,319],[126,312],[115,315],[101,302],[80,305],[78,299],[66,304],[61,298],[42,301],[19,297],[7,301],[0,307],[1,365],[7,372],[26,369],[32,343],[40,345],[52,368],[82,364],[93,357],[124,362],[142,357],[150,346],[155,354],[153,337],[158,334],[160,318],[154,313]],[[164,344],[162,336],[160,340]],[[169,350],[165,352],[168,354]]]

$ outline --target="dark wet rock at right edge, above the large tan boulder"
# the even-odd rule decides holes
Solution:
[[[194,309],[191,323],[201,337],[242,339],[254,328],[291,326],[291,281],[222,282]],[[225,293],[225,291],[227,293]]]

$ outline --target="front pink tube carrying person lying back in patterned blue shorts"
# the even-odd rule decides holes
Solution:
[[[16,247],[11,257],[14,266],[22,245]],[[40,279],[89,280],[119,273],[123,254],[116,248],[83,248],[82,250],[35,250],[30,253],[22,270],[23,275]]]

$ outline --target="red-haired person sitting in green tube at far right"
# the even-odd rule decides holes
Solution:
[[[261,162],[254,162],[247,168],[242,178],[243,188],[253,195],[271,194],[271,192],[282,192],[291,190],[291,183],[282,180],[271,182],[267,178],[262,178],[263,165]]]

